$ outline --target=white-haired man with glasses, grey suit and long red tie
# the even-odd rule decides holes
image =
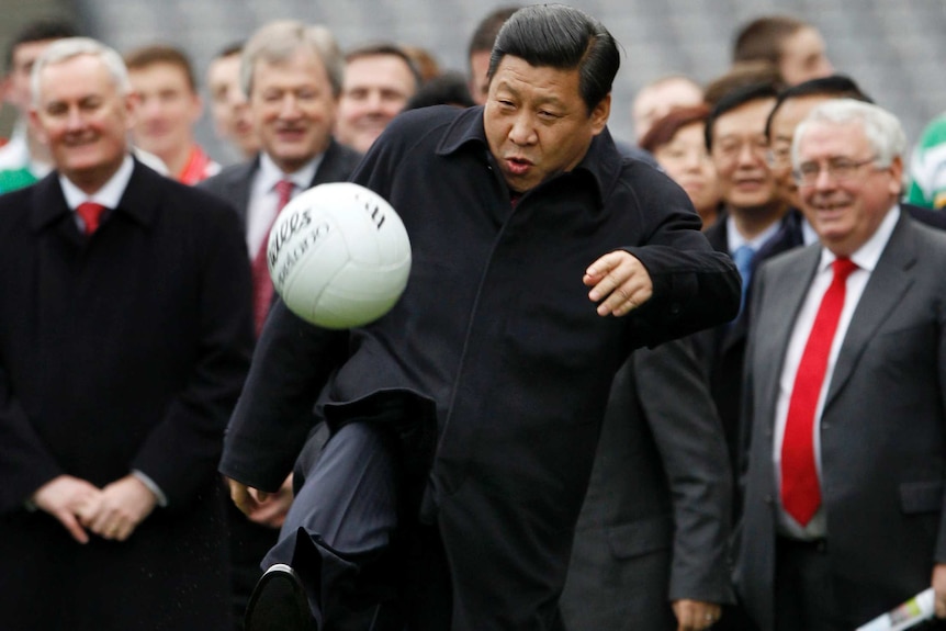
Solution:
[[[898,204],[904,148],[849,99],[795,134],[820,243],[761,268],[746,354],[736,584],[762,631],[853,629],[931,584],[946,615],[946,235]]]

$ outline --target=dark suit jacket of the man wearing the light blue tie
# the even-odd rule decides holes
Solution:
[[[778,232],[756,252],[753,269],[784,251],[803,244],[801,213],[790,210],[781,219]],[[720,252],[729,251],[727,221],[721,216],[707,228],[707,240]],[[746,293],[746,305],[751,305],[752,288]],[[743,358],[751,309],[744,308],[739,317],[722,326],[702,330],[691,337],[703,371],[710,384],[710,393],[722,420],[730,464],[740,471],[740,404],[742,402]],[[737,507],[736,507],[737,509]]]

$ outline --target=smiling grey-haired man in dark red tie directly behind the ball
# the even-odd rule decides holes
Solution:
[[[261,150],[201,185],[230,202],[243,219],[257,333],[273,298],[266,244],[277,214],[311,187],[347,180],[361,159],[331,136],[342,78],[344,60],[324,26],[271,22],[244,48],[240,82]]]

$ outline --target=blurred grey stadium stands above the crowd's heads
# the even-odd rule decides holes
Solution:
[[[167,43],[184,48],[203,77],[224,46],[260,24],[294,18],[323,23],[342,48],[379,40],[431,52],[443,69],[466,70],[466,42],[492,9],[487,0],[0,0],[0,43],[40,18],[72,18],[89,35],[120,53]],[[528,2],[518,2],[525,4]],[[615,84],[611,131],[631,138],[630,102],[646,81],[671,72],[700,82],[729,66],[736,27],[763,14],[784,13],[824,34],[838,71],[851,75],[903,121],[912,144],[923,125],[946,111],[946,0],[575,0],[599,18],[624,50]],[[0,135],[10,128],[4,106]],[[199,140],[225,158],[207,115]]]

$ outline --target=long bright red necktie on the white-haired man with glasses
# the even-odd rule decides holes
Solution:
[[[814,414],[827,371],[827,356],[844,308],[847,277],[857,269],[847,258],[838,258],[833,267],[834,278],[821,298],[795,375],[781,443],[781,505],[801,526],[811,521],[821,505],[814,462]]]

